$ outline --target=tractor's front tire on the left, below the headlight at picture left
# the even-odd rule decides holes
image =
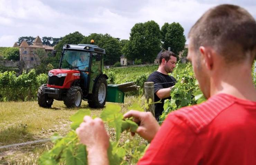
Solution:
[[[53,105],[53,99],[48,98],[47,94],[44,94],[43,89],[46,84],[42,84],[37,91],[37,102],[40,107],[51,108]]]

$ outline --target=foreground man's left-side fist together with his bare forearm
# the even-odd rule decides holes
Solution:
[[[100,118],[84,116],[84,122],[76,128],[80,142],[86,145],[90,165],[108,164],[109,136]]]

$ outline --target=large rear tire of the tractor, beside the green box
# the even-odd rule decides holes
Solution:
[[[104,77],[100,77],[96,84],[91,95],[91,98],[88,100],[88,104],[90,108],[103,108],[106,104],[107,99],[107,80]]]

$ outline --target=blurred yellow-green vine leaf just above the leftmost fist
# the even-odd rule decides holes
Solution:
[[[83,122],[84,116],[90,116],[91,111],[89,109],[80,109],[74,115],[70,117],[70,120],[73,122],[71,124],[71,129],[75,130]]]

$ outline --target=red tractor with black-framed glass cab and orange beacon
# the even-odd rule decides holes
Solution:
[[[56,99],[68,108],[80,107],[83,99],[91,108],[104,107],[108,89],[108,76],[102,72],[104,54],[105,49],[95,45],[64,45],[59,68],[50,70],[47,84],[38,89],[39,106],[49,108]]]

